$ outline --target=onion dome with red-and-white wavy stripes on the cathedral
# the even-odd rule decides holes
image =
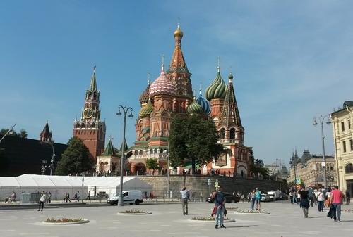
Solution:
[[[155,82],[153,82],[150,86],[150,97],[152,98],[159,95],[175,96],[176,94],[177,88],[165,76],[164,65],[162,65],[160,76],[155,79]]]

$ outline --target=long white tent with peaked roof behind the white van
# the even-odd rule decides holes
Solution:
[[[0,177],[0,200],[20,193],[52,193],[52,200],[64,200],[65,193],[73,199],[74,193],[80,192],[80,198],[86,198],[98,193],[112,196],[120,191],[120,177],[80,177],[80,176],[49,176],[23,174],[18,177]],[[150,184],[135,177],[123,177],[123,190],[152,191]]]

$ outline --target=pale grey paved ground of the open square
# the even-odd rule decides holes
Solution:
[[[0,210],[0,236],[254,236],[254,237],[301,237],[301,236],[353,236],[353,213],[342,213],[342,222],[325,217],[327,212],[309,209],[304,219],[299,205],[288,201],[261,203],[263,210],[271,214],[234,214],[227,217],[236,222],[225,223],[227,229],[215,229],[213,222],[191,221],[191,217],[210,215],[213,204],[190,203],[189,215],[181,213],[179,204],[143,203],[124,207],[101,205],[95,207],[48,208],[43,212],[34,210]],[[249,203],[227,204],[226,207],[249,209]],[[344,205],[342,208],[352,208]],[[118,215],[121,210],[138,209],[152,212],[150,215]],[[45,226],[42,221],[49,217],[83,217],[88,224]]]

